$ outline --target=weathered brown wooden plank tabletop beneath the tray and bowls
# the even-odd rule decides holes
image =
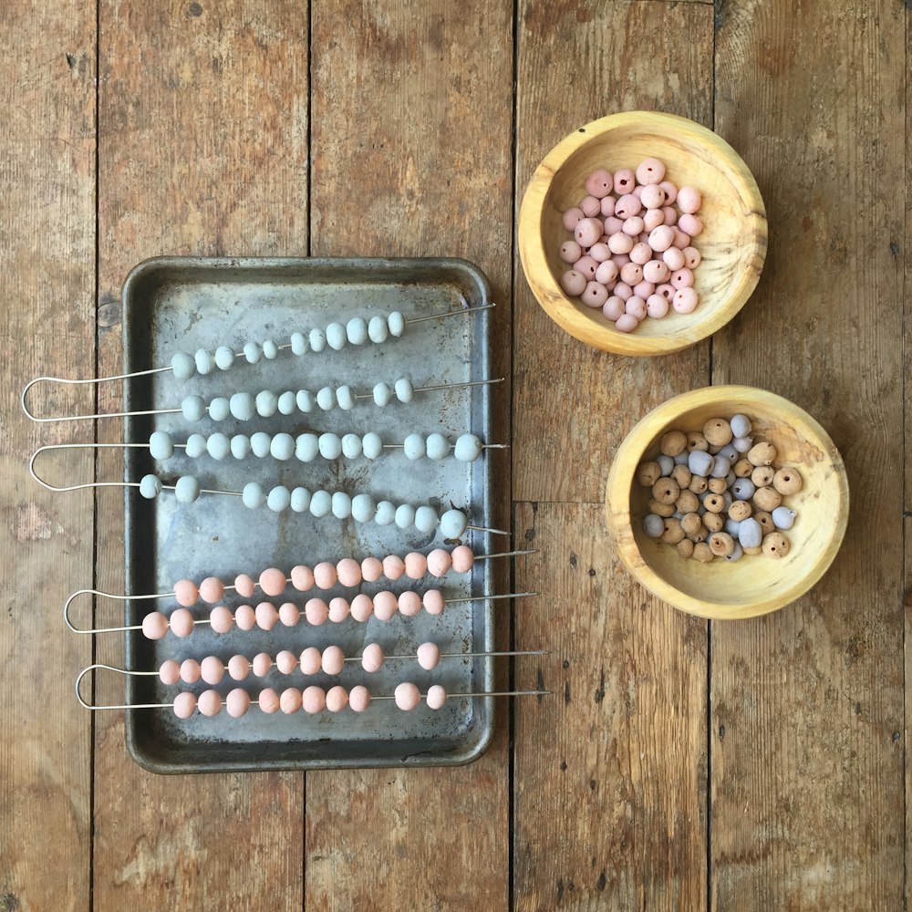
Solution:
[[[901,909],[910,26],[901,0],[0,6],[0,910]],[[741,316],[660,360],[558,330],[513,233],[554,142],[637,108],[730,140],[771,227]],[[78,708],[78,668],[121,646],[60,606],[122,585],[120,493],[39,490],[36,445],[91,431],[16,398],[118,372],[119,287],[153,254],[452,254],[491,277],[501,518],[538,549],[502,583],[541,592],[500,641],[553,649],[511,679],[555,693],[504,703],[479,762],[163,778],[119,713]],[[658,603],[603,522],[619,440],[709,382],[793,399],[848,466],[836,564],[760,620]],[[114,387],[56,404],[114,409]],[[119,455],[70,466],[117,478]]]

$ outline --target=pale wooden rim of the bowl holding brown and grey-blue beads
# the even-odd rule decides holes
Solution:
[[[707,394],[710,394],[708,398]],[[655,439],[658,426],[668,427],[668,424],[678,419],[682,412],[697,407],[713,405],[717,402],[737,399],[750,408],[751,403],[761,404],[764,409],[782,411],[784,422],[792,423],[794,420],[803,423],[823,444],[824,451],[833,463],[834,475],[837,481],[835,499],[837,501],[836,524],[833,535],[826,550],[808,573],[799,580],[784,588],[775,596],[763,598],[750,606],[735,604],[726,601],[707,602],[703,599],[690,596],[677,586],[672,586],[646,562],[639,550],[637,539],[633,534],[630,522],[630,492],[633,489],[634,472],[643,456],[648,444]],[[654,596],[668,602],[672,607],[699,617],[709,617],[712,620],[741,620],[748,617],[758,617],[778,611],[789,605],[795,599],[803,596],[812,589],[832,565],[836,554],[845,538],[845,528],[849,515],[849,486],[845,473],[845,462],[836,449],[830,435],[823,426],[809,415],[804,409],[795,405],[789,399],[784,399],[777,393],[759,387],[738,386],[729,384],[725,386],[709,386],[700,389],[691,389],[672,399],[667,399],[648,414],[644,415],[637,424],[627,433],[621,441],[621,448],[629,447],[637,451],[636,460],[618,460],[617,456],[608,472],[608,481],[605,489],[605,513],[608,528],[614,538],[617,554],[627,567],[630,574],[637,582],[645,586]],[[623,465],[621,463],[624,463]],[[631,555],[636,555],[638,563],[634,564]]]

